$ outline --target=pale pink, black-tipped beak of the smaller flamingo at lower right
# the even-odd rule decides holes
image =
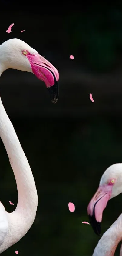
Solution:
[[[97,192],[88,204],[87,213],[89,215],[89,220],[94,232],[97,235],[100,235],[101,233],[102,215],[107,202],[111,197],[111,193],[112,186],[107,184],[102,185],[97,189]]]

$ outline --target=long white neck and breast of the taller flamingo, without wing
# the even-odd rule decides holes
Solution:
[[[17,207],[12,213],[7,213],[9,232],[0,247],[1,253],[27,233],[34,222],[38,205],[37,190],[31,168],[15,133],[15,129],[5,111],[1,98],[0,137],[7,151],[18,190]]]

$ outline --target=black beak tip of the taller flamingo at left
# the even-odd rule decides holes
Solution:
[[[55,104],[58,100],[58,82],[56,81],[53,86],[49,87],[48,91],[51,97],[51,102]]]

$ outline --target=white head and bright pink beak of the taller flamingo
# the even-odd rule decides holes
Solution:
[[[58,100],[58,70],[35,49],[20,39],[9,39],[0,45],[2,72],[8,68],[28,71],[44,81],[51,101]]]

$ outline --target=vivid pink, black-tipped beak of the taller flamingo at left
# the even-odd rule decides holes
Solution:
[[[33,55],[28,52],[26,57],[31,64],[33,74],[35,74],[38,79],[45,82],[51,101],[56,103],[58,100],[58,70],[40,54]]]

